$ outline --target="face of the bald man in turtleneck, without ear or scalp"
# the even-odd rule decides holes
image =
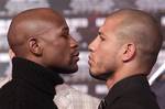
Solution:
[[[43,62],[46,67],[58,73],[75,73],[78,70],[78,45],[69,35],[66,22],[58,23],[42,36]]]

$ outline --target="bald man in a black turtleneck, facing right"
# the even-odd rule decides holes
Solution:
[[[0,109],[57,109],[59,73],[78,69],[78,45],[65,19],[48,8],[31,9],[13,18],[8,41],[15,57],[12,80],[0,89]]]

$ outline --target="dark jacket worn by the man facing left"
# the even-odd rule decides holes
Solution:
[[[147,79],[143,75],[124,78],[117,83],[100,109],[160,109]]]

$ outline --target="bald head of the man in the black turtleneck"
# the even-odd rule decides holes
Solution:
[[[8,41],[15,57],[58,73],[78,69],[78,44],[70,36],[65,19],[51,8],[30,9],[14,17]]]

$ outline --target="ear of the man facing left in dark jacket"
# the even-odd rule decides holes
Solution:
[[[135,56],[136,47],[134,43],[128,43],[123,45],[122,61],[129,62]]]

